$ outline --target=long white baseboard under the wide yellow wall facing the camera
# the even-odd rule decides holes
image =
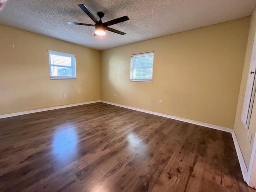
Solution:
[[[199,122],[199,121],[194,121],[194,120],[190,120],[190,119],[185,119],[185,118],[176,117],[176,116],[172,116],[172,115],[167,115],[167,114],[163,114],[163,113],[153,112],[153,111],[144,110],[144,109],[140,109],[140,108],[136,108],[136,107],[130,107],[130,106],[121,105],[121,104],[112,103],[112,102],[103,101],[103,100],[100,100],[100,102],[110,104],[110,105],[115,105],[115,106],[118,106],[118,107],[127,108],[127,109],[132,109],[132,110],[136,110],[136,111],[140,111],[140,112],[144,112],[144,113],[149,113],[149,114],[153,114],[153,115],[157,115],[157,116],[161,116],[161,117],[166,117],[166,118],[169,118],[169,119],[174,119],[174,120],[179,120],[179,121],[183,121],[183,122],[187,122],[187,123],[192,123],[192,124],[195,124],[195,125],[209,127],[209,128],[229,132],[229,133],[233,132],[233,129],[226,128],[226,127],[221,127],[221,126],[217,126],[217,125],[212,125],[212,124],[208,124],[208,123],[203,123],[203,122]]]

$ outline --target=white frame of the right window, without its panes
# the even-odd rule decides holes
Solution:
[[[144,69],[146,69],[146,68],[150,68],[150,69],[151,69],[151,68],[152,68],[152,78],[138,78],[138,79],[132,78],[131,76],[132,76],[132,74],[134,74],[134,73],[132,73],[132,70],[136,69],[136,68],[133,67],[133,63],[132,63],[133,56],[136,56],[137,58],[139,58],[139,57],[144,57],[144,56],[146,56],[146,55],[148,55],[148,54],[152,54],[152,55],[153,55],[153,64],[152,64],[152,67],[140,67],[140,68],[138,68],[138,69],[143,69],[143,68],[144,68]],[[153,82],[153,68],[154,68],[154,51],[131,55],[131,62],[130,62],[130,81],[133,81],[133,82]]]

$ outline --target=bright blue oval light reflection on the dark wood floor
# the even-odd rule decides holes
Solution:
[[[58,162],[68,162],[77,155],[77,132],[76,128],[69,125],[57,128],[53,137],[52,152]]]

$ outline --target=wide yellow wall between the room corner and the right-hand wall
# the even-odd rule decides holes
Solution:
[[[233,128],[249,27],[247,17],[104,50],[101,99]],[[131,54],[151,51],[153,82],[130,82]]]

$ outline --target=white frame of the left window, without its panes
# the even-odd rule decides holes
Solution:
[[[71,66],[63,66],[63,65],[51,64],[51,57],[50,57],[50,55],[54,54],[54,53],[56,53],[56,55],[60,54],[60,55],[70,56],[70,58],[71,58]],[[64,53],[64,52],[48,50],[48,56],[49,56],[49,67],[50,67],[50,79],[56,79],[56,80],[76,80],[76,55],[70,54],[70,53]],[[52,76],[52,66],[71,68],[73,76]]]

